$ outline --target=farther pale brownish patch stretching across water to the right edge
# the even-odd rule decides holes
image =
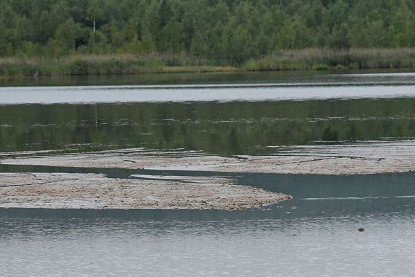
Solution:
[[[3,165],[301,175],[368,175],[415,170],[415,141],[277,147],[275,154],[220,157],[202,152],[118,150],[5,158]]]

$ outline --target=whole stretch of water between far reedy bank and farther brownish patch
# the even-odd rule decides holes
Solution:
[[[98,87],[26,80],[0,87],[0,152],[143,147],[226,156],[415,137],[415,73],[291,74],[139,75],[122,86],[95,78],[105,84]]]

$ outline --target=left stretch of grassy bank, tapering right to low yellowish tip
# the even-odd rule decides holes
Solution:
[[[3,77],[39,75],[107,75],[133,73],[233,71],[230,66],[199,65],[192,57],[163,55],[75,55],[61,58],[0,59]]]

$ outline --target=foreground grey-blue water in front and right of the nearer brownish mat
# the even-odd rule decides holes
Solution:
[[[414,177],[243,175],[297,196],[252,211],[0,209],[0,274],[412,276]]]

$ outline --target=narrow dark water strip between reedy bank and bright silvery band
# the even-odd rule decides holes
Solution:
[[[0,87],[89,86],[89,85],[151,85],[151,84],[221,84],[221,83],[310,83],[310,82],[371,82],[414,83],[412,69],[367,69],[349,71],[261,71],[230,73],[169,73],[131,75],[57,76],[0,79]],[[385,78],[382,74],[388,74]],[[391,75],[393,74],[393,75]]]

